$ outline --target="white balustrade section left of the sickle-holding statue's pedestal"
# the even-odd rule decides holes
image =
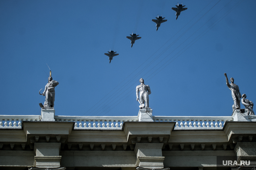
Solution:
[[[21,128],[21,121],[41,121],[41,115],[0,115],[0,128]]]

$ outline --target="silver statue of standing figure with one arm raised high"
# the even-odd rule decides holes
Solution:
[[[232,105],[232,109],[233,111],[235,109],[240,109],[240,99],[241,99],[241,93],[239,92],[239,88],[236,84],[234,84],[234,78],[231,77],[230,78],[230,84],[228,82],[228,77],[227,77],[227,74],[224,73],[225,77],[226,77],[226,84],[227,84],[227,87],[229,88],[229,90],[231,90],[231,96],[233,98],[233,101],[234,101],[234,104]]]

